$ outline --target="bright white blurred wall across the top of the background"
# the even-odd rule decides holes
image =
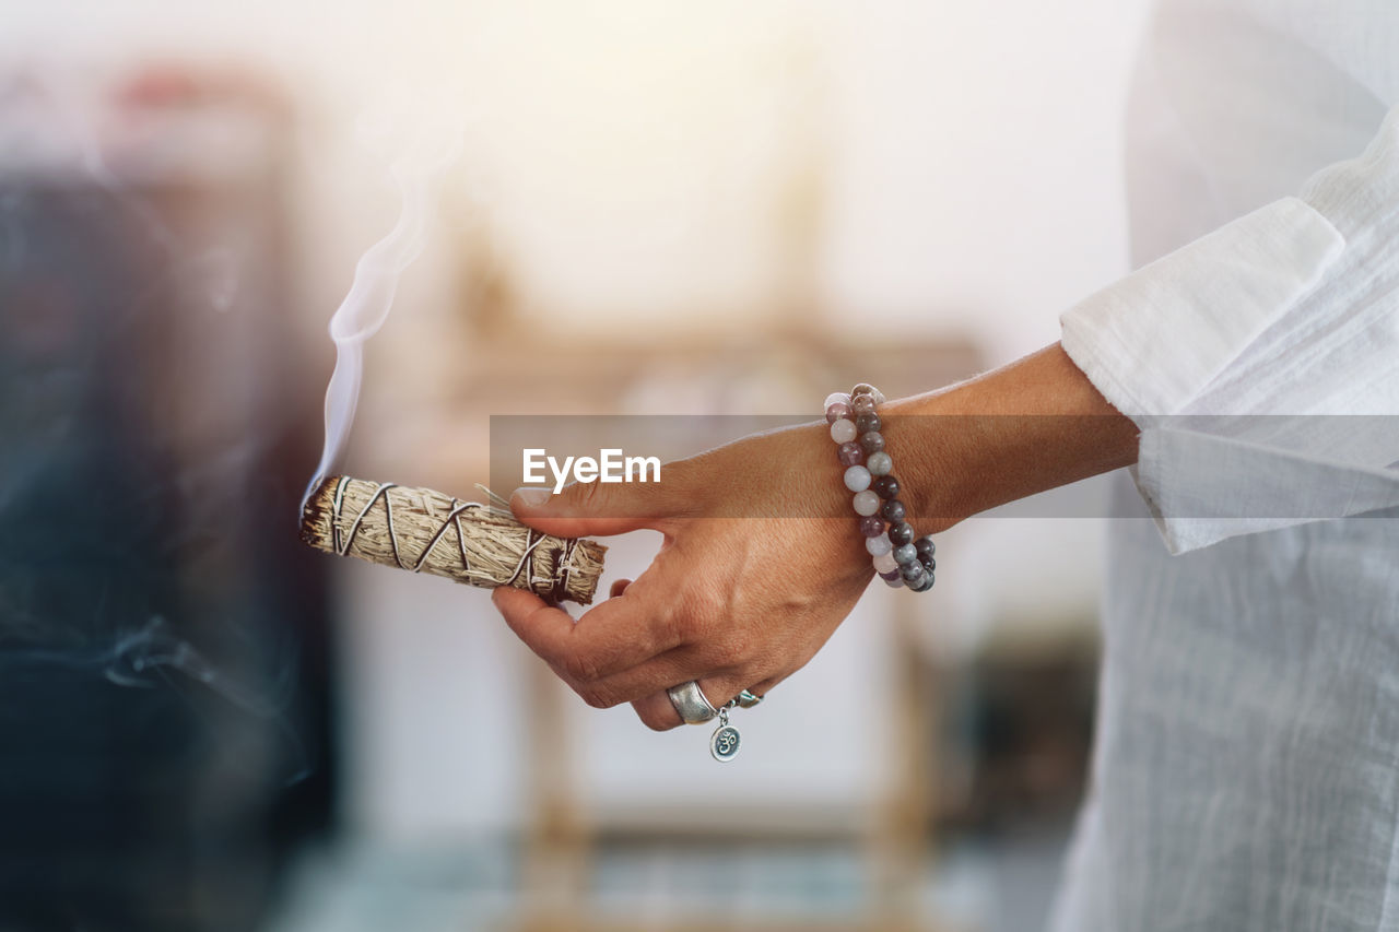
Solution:
[[[312,315],[395,211],[354,120],[413,101],[467,122],[457,195],[546,319],[748,313],[782,284],[774,197],[813,144],[825,312],[970,330],[1003,358],[1123,267],[1118,125],[1146,3],[0,0],[0,55],[283,76],[309,115]]]

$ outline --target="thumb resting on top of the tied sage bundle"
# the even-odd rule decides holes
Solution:
[[[674,477],[672,477],[674,476]],[[569,483],[553,488],[526,486],[511,495],[511,511],[534,530],[558,537],[621,535],[652,528],[669,532],[673,519],[687,511],[679,470],[666,481]]]

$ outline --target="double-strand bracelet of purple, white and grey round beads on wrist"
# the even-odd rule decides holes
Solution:
[[[845,487],[855,493],[855,514],[860,516],[865,549],[874,558],[874,572],[887,585],[907,585],[914,592],[933,588],[936,547],[929,536],[915,540],[914,526],[905,521],[908,509],[898,500],[894,459],[884,449],[877,407],[884,395],[860,382],[846,395],[834,392],[825,399],[825,421],[837,456],[845,466]]]

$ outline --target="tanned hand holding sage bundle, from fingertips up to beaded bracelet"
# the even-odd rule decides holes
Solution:
[[[516,518],[565,537],[660,530],[635,582],[575,623],[532,592],[497,589],[511,628],[596,708],[631,702],[680,725],[666,689],[711,704],[765,694],[845,620],[873,577],[825,424],[748,437],[667,463],[662,481],[519,490]]]

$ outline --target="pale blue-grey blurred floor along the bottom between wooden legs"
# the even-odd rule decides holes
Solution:
[[[1063,821],[947,842],[929,870],[928,928],[1044,928],[1069,837]],[[264,932],[462,932],[519,919],[518,849],[508,840],[344,845],[308,854]],[[860,852],[845,847],[604,849],[593,873],[597,928],[676,928],[725,915],[764,928],[838,922],[863,907]],[[686,926],[691,928],[691,926]],[[823,926],[824,928],[824,926]]]

